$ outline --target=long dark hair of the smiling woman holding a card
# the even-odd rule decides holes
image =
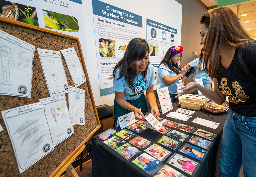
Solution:
[[[120,69],[119,78],[117,79],[121,79],[124,76],[124,79],[133,87],[133,80],[137,75],[137,70],[134,67],[134,64],[137,60],[144,58],[147,52],[149,53],[149,46],[146,39],[132,39],[127,45],[123,58],[116,64],[113,70],[113,77],[115,77],[117,69]],[[148,65],[146,66],[145,71],[141,72],[143,79],[147,76]]]

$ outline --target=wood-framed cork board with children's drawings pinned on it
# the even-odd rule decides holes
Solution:
[[[11,141],[0,114],[0,124],[4,129],[2,132],[0,132],[0,176],[49,176],[53,172],[57,173],[56,171],[63,170],[61,168],[65,164],[65,161],[68,161],[72,155],[78,152],[79,147],[82,147],[90,136],[92,136],[92,134],[100,127],[91,85],[89,83],[88,73],[82,56],[80,42],[78,38],[74,38],[72,36],[67,36],[47,29],[23,24],[4,17],[0,17],[0,29],[36,46],[36,48],[38,47],[41,49],[60,51],[62,49],[74,47],[84,68],[87,81],[78,88],[85,90],[85,125],[73,126],[74,134],[71,137],[55,146],[53,152],[43,157],[22,174],[19,173]],[[74,83],[63,56],[62,61],[68,84],[74,87]],[[0,111],[36,103],[39,102],[39,99],[47,97],[50,97],[50,94],[47,89],[38,53],[35,49],[31,98],[0,95]],[[66,99],[68,104],[68,94],[66,94]]]

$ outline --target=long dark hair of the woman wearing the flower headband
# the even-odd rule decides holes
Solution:
[[[174,62],[171,60],[171,58],[173,56],[177,55],[178,53],[172,53],[171,48],[175,48],[175,46],[172,46],[167,50],[164,58],[160,62],[160,65],[163,63],[166,64],[171,71],[173,71],[174,73],[176,73],[178,75],[181,71],[181,66],[178,63],[175,65]],[[180,53],[180,54],[182,56],[182,53]],[[179,62],[181,62],[181,59],[179,60]],[[160,67],[160,65],[159,65],[159,67]],[[176,68],[174,68],[174,67],[176,67]]]

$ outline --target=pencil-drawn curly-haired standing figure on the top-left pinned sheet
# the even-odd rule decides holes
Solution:
[[[9,63],[11,63],[11,67],[14,69],[14,61],[11,57],[8,57],[9,54],[11,54],[10,47],[0,47],[0,62],[3,68],[3,79],[1,79],[1,82],[5,83],[7,81],[8,84],[12,84],[10,80]]]

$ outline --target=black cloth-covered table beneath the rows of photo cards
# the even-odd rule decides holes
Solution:
[[[181,108],[181,105],[176,104],[175,101],[172,103],[172,105],[173,105],[173,109],[171,111],[175,111],[176,109]],[[193,159],[194,161],[200,163],[200,166],[197,169],[194,176],[196,176],[196,177],[219,176],[220,139],[222,137],[224,123],[227,119],[227,112],[210,113],[204,107],[202,107],[202,109],[200,111],[196,111],[196,110],[193,110],[193,111],[195,111],[195,114],[192,115],[192,117],[189,118],[187,121],[182,121],[182,120],[178,120],[178,119],[173,119],[171,117],[166,117],[165,115],[167,115],[170,111],[168,111],[164,115],[160,114],[160,117],[174,121],[174,122],[182,123],[182,124],[185,124],[185,125],[188,125],[191,127],[200,128],[202,130],[206,130],[206,131],[214,133],[214,134],[218,134],[217,137],[215,137],[213,139],[213,141],[212,141],[213,144],[212,144],[212,146],[210,146],[210,149],[207,150],[208,153],[203,161],[200,161],[196,158],[188,156],[187,154],[183,154],[183,153],[179,152],[178,149],[173,150],[167,146],[163,146],[163,145],[156,143],[156,141],[164,135],[164,134],[161,134],[160,132],[157,132],[150,128],[147,128],[146,130],[142,131],[141,133],[136,133],[136,134],[138,134],[139,136],[146,138],[149,141],[152,141],[152,142],[154,142],[172,152],[171,155],[168,155],[168,157],[165,158],[163,163],[167,164],[166,163],[167,160],[173,155],[173,153],[176,152],[176,153],[182,154],[183,156]],[[212,116],[213,118],[215,118],[216,120],[213,120],[211,117],[207,116],[206,113],[209,114],[210,116]],[[214,121],[214,122],[220,123],[220,125],[216,129],[212,129],[209,127],[205,127],[205,126],[193,123],[192,121],[196,117]],[[121,130],[120,126],[114,127],[113,129],[115,129],[116,132]],[[177,130],[175,128],[171,128],[171,129]],[[183,131],[181,131],[181,132],[183,132]],[[188,132],[184,132],[184,133],[186,133],[188,135],[192,135],[191,133],[188,133]],[[200,137],[200,138],[202,138],[202,137]],[[188,143],[188,142],[184,141],[183,143]],[[188,144],[191,144],[191,143],[188,143]],[[191,144],[191,145],[193,145],[193,144]],[[92,140],[92,149],[93,149],[93,154],[92,154],[92,176],[93,177],[151,176],[151,175],[147,174],[145,171],[143,171],[143,169],[140,169],[137,165],[133,164],[130,161],[130,160],[134,159],[135,157],[139,157],[139,155],[141,153],[139,153],[135,157],[132,157],[129,160],[127,160],[126,158],[121,156],[119,153],[117,153],[114,149],[110,148],[105,143],[103,143],[102,140],[98,138],[98,135],[96,135]],[[141,152],[143,152],[143,150],[141,150]],[[167,165],[169,165],[169,164],[167,164]],[[169,165],[169,166],[174,168],[175,170],[181,172],[185,176],[188,176],[188,177],[190,176],[189,174],[185,173],[184,171],[179,170],[178,168],[176,168],[172,165]]]

